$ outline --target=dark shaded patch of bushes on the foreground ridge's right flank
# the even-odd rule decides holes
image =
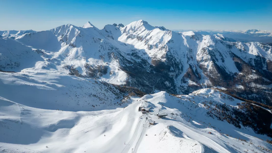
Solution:
[[[272,114],[251,103],[238,103],[238,108],[226,104],[216,104],[215,108],[207,112],[207,115],[221,121],[225,120],[238,128],[241,128],[240,125],[251,127],[258,134],[267,134],[272,137],[272,129],[270,128]]]

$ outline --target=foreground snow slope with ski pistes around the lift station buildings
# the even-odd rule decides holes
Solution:
[[[271,145],[261,140],[269,137],[205,115],[208,106],[215,103],[236,107],[241,102],[217,94],[215,90],[203,89],[178,98],[161,91],[132,97],[125,108],[90,112],[38,109],[0,97],[0,122],[4,125],[0,127],[0,151],[271,152]],[[195,101],[188,100],[193,97]],[[204,99],[216,101],[204,105]],[[138,112],[138,107],[146,103],[151,106],[150,113]],[[157,113],[168,116],[158,118]],[[150,120],[155,124],[150,125]]]

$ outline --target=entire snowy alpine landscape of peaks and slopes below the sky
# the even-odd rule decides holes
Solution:
[[[268,42],[143,20],[0,31],[0,152],[272,152],[271,111]]]

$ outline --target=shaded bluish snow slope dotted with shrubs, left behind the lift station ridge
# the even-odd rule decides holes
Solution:
[[[47,72],[0,72],[0,76],[0,96],[30,107],[94,111],[122,103],[123,93],[93,79]]]

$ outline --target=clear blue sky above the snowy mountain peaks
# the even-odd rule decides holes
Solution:
[[[167,29],[272,30],[272,0],[0,0],[0,30],[145,20]]]

